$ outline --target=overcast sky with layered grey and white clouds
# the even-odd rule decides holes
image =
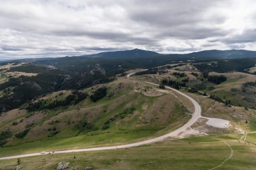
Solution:
[[[0,0],[0,59],[256,50],[256,1]]]

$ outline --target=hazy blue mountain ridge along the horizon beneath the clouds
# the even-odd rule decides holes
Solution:
[[[66,56],[66,57],[47,57],[47,58],[25,58],[20,60],[5,60],[0,61],[0,63],[11,62],[11,61],[20,61],[20,62],[28,62],[28,63],[36,63],[39,61],[55,61],[58,62],[60,60],[69,60],[72,58],[73,60],[78,60],[79,58],[105,58],[106,60],[131,60],[133,59],[145,59],[152,58],[161,59],[168,58],[168,60],[227,60],[227,59],[237,59],[237,58],[256,58],[256,51],[244,50],[244,49],[230,49],[230,50],[203,50],[201,52],[193,52],[188,54],[160,54],[156,52],[152,52],[149,50],[142,49],[131,49],[131,50],[121,50],[114,52],[101,52],[97,54],[89,54],[89,55],[81,55],[81,56]],[[40,63],[40,62],[39,62]]]

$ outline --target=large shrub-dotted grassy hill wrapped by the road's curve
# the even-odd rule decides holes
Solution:
[[[82,91],[91,96],[103,86],[107,94],[96,103],[87,97],[75,105],[30,112],[24,106],[1,115],[0,130],[10,131],[11,137],[0,148],[0,155],[129,143],[177,129],[190,117],[189,108],[172,94],[157,90],[154,94],[147,90],[155,87],[126,78]],[[53,92],[42,98],[42,105],[70,94]]]

